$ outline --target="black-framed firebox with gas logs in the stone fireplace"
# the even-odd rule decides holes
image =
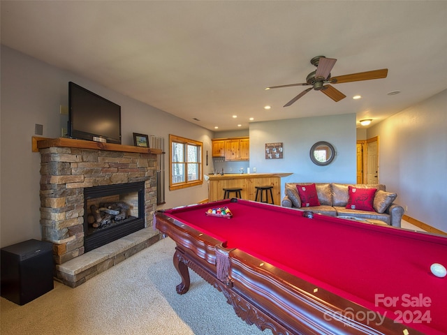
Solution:
[[[145,182],[84,189],[85,252],[145,228]]]

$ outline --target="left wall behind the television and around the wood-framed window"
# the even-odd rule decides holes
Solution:
[[[31,137],[35,124],[43,125],[43,137],[60,137],[67,117],[59,114],[59,105],[68,105],[69,81],[122,106],[122,144],[133,145],[132,133],[156,135],[165,138],[169,152],[168,135],[174,134],[203,142],[211,153],[211,131],[2,45],[0,246],[41,239],[41,155],[31,152]],[[205,173],[211,172],[212,165],[205,166]],[[166,187],[165,207],[204,200],[207,192],[206,182],[172,192]]]

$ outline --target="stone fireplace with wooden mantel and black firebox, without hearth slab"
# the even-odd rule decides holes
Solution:
[[[62,267],[58,265],[152,227],[156,210],[156,155],[161,150],[34,137],[34,150],[37,149],[41,153],[42,239],[53,244],[57,278],[66,281],[66,274],[59,273]],[[89,232],[88,208],[92,201],[126,203],[131,223],[118,222],[117,228],[107,225]],[[129,227],[124,228],[126,225]],[[101,234],[105,236],[98,242]]]

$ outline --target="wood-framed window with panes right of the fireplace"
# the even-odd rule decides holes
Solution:
[[[169,189],[201,185],[203,143],[169,135]]]

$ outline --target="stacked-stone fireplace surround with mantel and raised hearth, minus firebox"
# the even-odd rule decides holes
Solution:
[[[57,278],[74,287],[159,239],[158,232],[147,229],[156,210],[156,154],[161,150],[67,138],[33,140],[41,153],[42,239],[53,244]],[[123,237],[110,243],[118,248],[100,247],[101,257],[89,255],[94,251],[84,254],[84,189],[136,181],[145,185],[146,234],[135,232],[137,241]]]

